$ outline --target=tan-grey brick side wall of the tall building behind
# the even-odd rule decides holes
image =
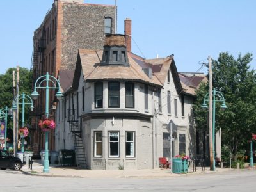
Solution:
[[[78,49],[103,49],[105,17],[112,18],[115,33],[115,6],[63,3],[62,8],[60,69],[74,70]]]

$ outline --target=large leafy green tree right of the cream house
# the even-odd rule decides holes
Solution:
[[[216,130],[221,127],[222,145],[230,148],[235,160],[237,151],[245,150],[244,146],[256,132],[256,74],[250,70],[251,61],[250,53],[244,56],[239,54],[235,60],[228,52],[221,52],[218,60],[212,61],[213,87],[223,93],[228,106],[226,111],[216,113]],[[200,86],[198,93],[201,92],[207,93],[205,86]],[[196,100],[201,101],[202,95],[198,94]],[[194,109],[198,106],[199,102],[195,102]],[[216,106],[218,109],[220,104]],[[203,118],[201,113],[195,113],[199,126]]]

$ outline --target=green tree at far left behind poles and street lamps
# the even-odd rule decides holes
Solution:
[[[16,71],[16,68],[8,68],[5,74],[0,74],[0,109],[8,106],[12,108],[13,102],[13,70]],[[30,72],[27,68],[19,68],[19,94],[24,92],[25,94],[31,93],[31,83],[30,83]],[[20,106],[21,108],[21,106]],[[25,124],[29,124],[29,106],[26,105],[25,110]],[[19,125],[21,125],[21,109],[19,110]],[[13,121],[8,116],[8,131],[7,138],[10,138],[11,142],[13,141]]]

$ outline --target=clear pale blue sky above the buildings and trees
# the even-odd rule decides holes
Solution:
[[[31,67],[33,31],[53,0],[12,0],[0,3],[0,74],[10,67]],[[85,3],[115,4],[115,0]],[[145,58],[174,54],[179,72],[204,72],[200,61],[228,51],[235,58],[251,52],[256,69],[255,0],[116,0],[117,33],[132,20],[132,52]],[[199,70],[200,69],[200,70]]]

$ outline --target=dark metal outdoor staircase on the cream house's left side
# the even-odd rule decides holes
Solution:
[[[78,120],[76,120],[74,109],[67,109],[67,122],[69,123],[70,132],[72,132],[74,140],[77,166],[86,169],[88,166],[86,163],[86,152],[84,150],[82,131],[78,125]]]

